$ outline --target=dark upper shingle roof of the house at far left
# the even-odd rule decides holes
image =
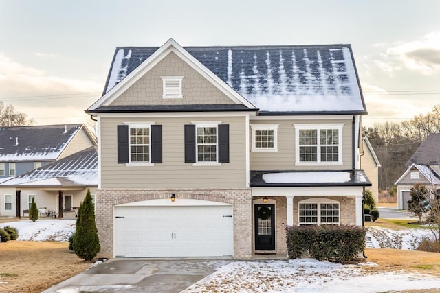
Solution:
[[[0,128],[0,161],[52,161],[83,124]]]

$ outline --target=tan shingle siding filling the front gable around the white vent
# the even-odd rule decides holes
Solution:
[[[164,99],[162,77],[183,76],[182,98]],[[111,102],[120,105],[235,104],[211,82],[171,52]]]

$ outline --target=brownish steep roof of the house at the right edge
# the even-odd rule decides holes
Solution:
[[[440,133],[429,134],[406,165],[440,165]]]

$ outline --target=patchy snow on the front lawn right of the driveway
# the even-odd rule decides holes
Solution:
[[[375,273],[315,259],[233,261],[182,291],[190,292],[384,292],[439,288],[439,277]]]

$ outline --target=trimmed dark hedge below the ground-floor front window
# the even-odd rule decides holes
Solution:
[[[359,226],[288,226],[289,259],[310,255],[318,261],[347,263],[365,248],[366,228]]]

